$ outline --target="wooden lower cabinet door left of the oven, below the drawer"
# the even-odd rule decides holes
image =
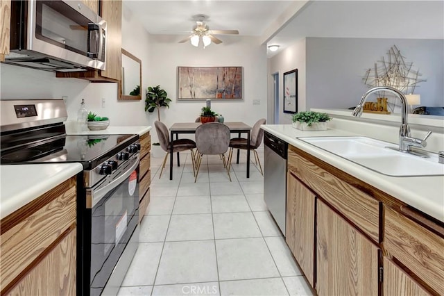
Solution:
[[[76,228],[7,295],[76,295]]]

